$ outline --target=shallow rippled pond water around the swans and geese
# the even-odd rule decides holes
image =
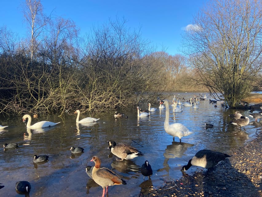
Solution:
[[[175,92],[176,98],[194,98],[200,92]],[[207,94],[209,96],[209,94]],[[168,135],[164,130],[166,110],[151,112],[149,117],[137,118],[136,107],[119,112],[125,112],[125,118],[114,118],[114,110],[108,114],[95,114],[100,118],[97,123],[76,124],[76,114],[69,112],[63,117],[57,115],[40,115],[32,118],[32,124],[47,120],[61,122],[55,127],[46,129],[26,129],[22,117],[3,117],[0,124],[6,127],[0,130],[0,144],[18,143],[18,149],[0,151],[0,183],[5,187],[0,190],[1,196],[21,196],[15,191],[15,183],[27,180],[31,183],[30,196],[101,196],[102,187],[98,186],[85,172],[86,165],[93,156],[100,157],[102,167],[108,167],[119,174],[127,185],[110,186],[108,196],[138,196],[140,191],[147,193],[152,187],[158,188],[165,181],[182,177],[180,171],[183,165],[201,149],[211,149],[224,153],[244,146],[255,137],[260,123],[250,124],[241,130],[229,124],[229,114],[236,110],[225,109],[221,103],[209,104],[209,98],[199,101],[199,109],[182,107],[183,112],[175,113],[171,107],[174,96],[168,97],[170,108],[170,123],[182,123],[193,134],[179,139]],[[200,96],[203,97],[203,96]],[[212,98],[211,98],[212,99]],[[147,109],[147,104],[141,105]],[[151,107],[158,108],[158,105]],[[240,111],[247,116],[249,110]],[[258,111],[253,111],[256,113]],[[88,117],[81,114],[80,119]],[[250,122],[254,120],[250,117]],[[214,125],[205,128],[205,123]],[[127,143],[136,147],[143,156],[133,160],[115,161],[115,156],[108,149],[108,140],[116,143]],[[81,155],[71,155],[70,147],[83,147]],[[49,155],[49,161],[43,164],[33,164],[34,155]],[[148,160],[153,169],[151,180],[140,174],[139,168]],[[186,173],[199,171],[200,167],[191,167]]]

